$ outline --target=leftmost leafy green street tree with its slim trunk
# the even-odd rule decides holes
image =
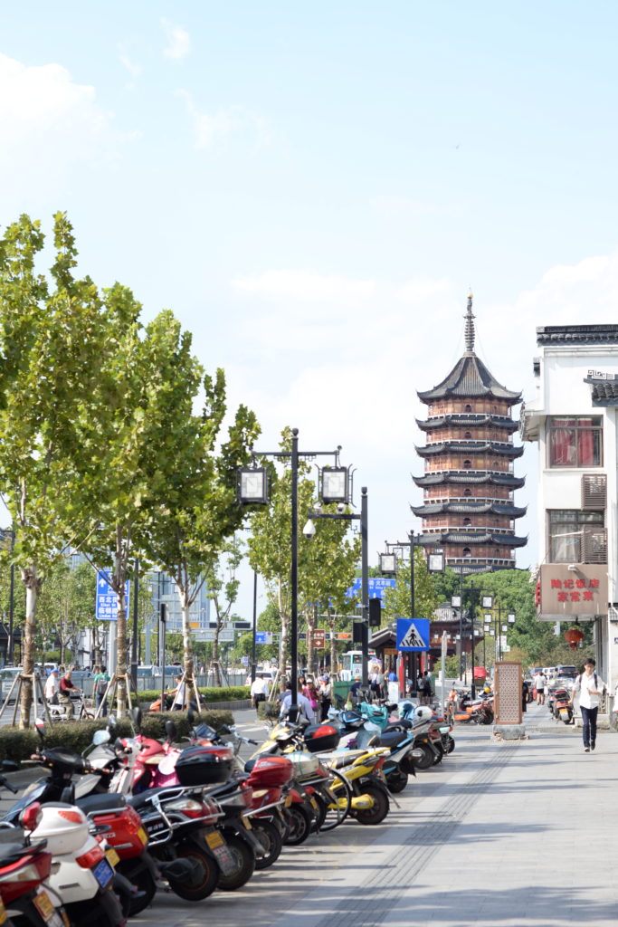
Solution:
[[[102,413],[112,397],[102,370],[115,348],[113,291],[102,299],[73,275],[77,250],[54,217],[49,276],[35,262],[40,223],[21,216],[0,240],[0,489],[16,532],[11,561],[26,590],[20,724],[30,723],[36,610],[45,576],[95,526],[93,488],[103,464]]]

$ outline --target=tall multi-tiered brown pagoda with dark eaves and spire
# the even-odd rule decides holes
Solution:
[[[424,502],[412,512],[423,519],[423,547],[440,547],[448,566],[469,574],[513,568],[527,539],[515,534],[525,508],[513,503],[524,479],[513,474],[523,447],[512,443],[519,424],[511,410],[522,394],[500,386],[474,353],[472,294],[464,318],[465,353],[442,383],[418,393],[427,443],[416,448],[425,472],[413,479]]]

